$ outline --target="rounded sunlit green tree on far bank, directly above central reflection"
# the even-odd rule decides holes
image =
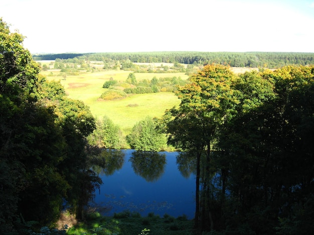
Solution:
[[[164,134],[158,129],[157,120],[149,116],[133,126],[126,141],[132,149],[139,151],[160,151],[166,144]]]

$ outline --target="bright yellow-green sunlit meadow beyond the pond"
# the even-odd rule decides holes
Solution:
[[[98,72],[80,72],[79,75],[60,76],[60,70],[42,71],[47,80],[60,80],[70,98],[82,100],[90,107],[96,118],[108,116],[119,125],[124,134],[128,134],[133,125],[146,116],[161,117],[166,109],[180,104],[178,97],[172,92],[132,94],[120,100],[103,100],[99,96],[105,91],[102,87],[111,77],[117,81],[125,81],[131,71],[105,70]],[[134,73],[136,80],[151,80],[154,76],[181,77],[187,79],[185,73]]]

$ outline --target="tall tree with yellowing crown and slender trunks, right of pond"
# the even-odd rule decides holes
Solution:
[[[168,143],[196,154],[195,227],[202,230],[214,228],[209,201],[211,146],[219,128],[236,113],[235,107],[239,101],[237,91],[231,87],[233,80],[234,74],[226,66],[215,64],[204,66],[203,70],[191,76],[189,84],[179,88],[180,106],[172,108],[165,115]],[[200,159],[202,154],[206,155],[206,162],[200,203]],[[200,205],[203,209],[202,213],[200,213]],[[199,224],[200,219],[201,224]],[[210,221],[210,223],[205,221]]]

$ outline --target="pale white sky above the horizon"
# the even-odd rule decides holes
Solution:
[[[314,0],[0,0],[31,53],[314,52]]]

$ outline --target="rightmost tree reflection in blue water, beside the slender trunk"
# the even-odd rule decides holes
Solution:
[[[180,152],[177,155],[178,169],[182,176],[189,178],[191,174],[196,174],[196,157],[190,152]]]

